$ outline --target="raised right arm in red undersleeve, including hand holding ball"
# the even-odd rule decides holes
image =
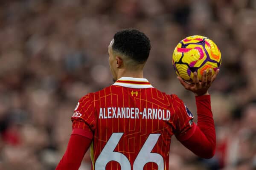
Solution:
[[[183,137],[176,136],[177,139],[189,150],[202,158],[212,158],[215,154],[215,126],[212,117],[211,101],[208,94],[208,89],[211,83],[215,80],[219,70],[212,76],[210,69],[208,74],[204,71],[202,82],[198,80],[197,74],[194,73],[194,83],[187,84],[180,77],[180,83],[189,91],[195,94],[198,125],[195,123],[186,131]]]

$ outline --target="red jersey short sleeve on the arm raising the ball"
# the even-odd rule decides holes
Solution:
[[[175,110],[173,125],[174,133],[178,140],[185,140],[192,136],[194,129],[194,116],[189,111],[185,103],[179,99],[176,95],[172,95],[173,108]]]

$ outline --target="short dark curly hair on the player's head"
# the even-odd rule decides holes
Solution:
[[[130,57],[138,64],[143,64],[148,59],[151,45],[149,38],[143,32],[128,28],[116,32],[112,49]]]

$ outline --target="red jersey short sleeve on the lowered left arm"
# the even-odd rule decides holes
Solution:
[[[71,121],[73,122],[72,134],[93,138],[95,130],[95,109],[94,102],[90,94],[79,99]]]

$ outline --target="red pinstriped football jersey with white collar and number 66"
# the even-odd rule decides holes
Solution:
[[[131,77],[82,97],[71,119],[73,134],[93,141],[93,170],[168,170],[172,135],[184,139],[193,125],[176,95]]]

